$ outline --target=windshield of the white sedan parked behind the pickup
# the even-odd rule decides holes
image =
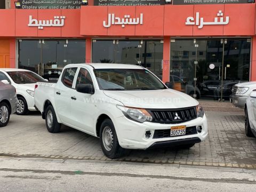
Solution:
[[[17,84],[44,82],[44,78],[31,71],[9,71],[7,74]]]

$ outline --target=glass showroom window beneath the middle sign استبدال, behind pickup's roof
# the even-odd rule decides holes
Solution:
[[[92,62],[141,65],[162,78],[163,41],[93,39]]]

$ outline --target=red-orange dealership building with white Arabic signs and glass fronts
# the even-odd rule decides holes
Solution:
[[[6,0],[0,6],[1,68],[57,80],[69,63],[130,63],[174,89],[196,90],[198,98],[256,81],[254,1]]]

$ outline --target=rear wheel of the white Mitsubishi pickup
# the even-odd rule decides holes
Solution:
[[[58,123],[55,111],[51,105],[45,110],[45,124],[50,133],[60,132],[61,124]]]

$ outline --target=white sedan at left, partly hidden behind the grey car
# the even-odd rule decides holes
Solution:
[[[25,69],[0,69],[0,81],[7,80],[17,91],[18,115],[26,115],[28,111],[35,111],[34,90],[36,82],[45,82],[41,76]]]

